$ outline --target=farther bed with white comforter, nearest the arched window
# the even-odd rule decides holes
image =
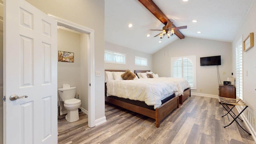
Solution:
[[[134,74],[138,76],[138,73],[145,73],[150,72],[150,70],[134,70]],[[190,86],[189,84],[182,84],[182,81],[179,78],[168,78],[169,80],[175,82],[178,87],[178,96],[179,96],[179,103],[183,104],[184,100],[186,100],[189,96],[191,96]],[[188,83],[188,82],[187,82]]]

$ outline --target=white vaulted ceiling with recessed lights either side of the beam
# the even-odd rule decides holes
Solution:
[[[153,0],[185,36],[232,42],[254,0]],[[192,22],[197,20],[197,22]],[[132,24],[131,28],[128,24]],[[138,0],[105,0],[105,41],[153,54],[175,40],[154,37],[164,24]],[[198,34],[197,32],[201,33]],[[149,37],[147,35],[150,34]],[[162,41],[159,43],[159,41]],[[182,40],[182,39],[181,39]]]

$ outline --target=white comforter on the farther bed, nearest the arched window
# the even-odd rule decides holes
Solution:
[[[190,88],[188,80],[186,80],[185,78],[159,77],[154,79],[160,79],[160,80],[164,79],[164,80],[170,80],[174,82],[178,87],[177,96],[182,95],[184,90],[186,90],[187,88]]]

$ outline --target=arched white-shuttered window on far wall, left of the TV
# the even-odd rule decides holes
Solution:
[[[191,89],[196,90],[196,56],[171,58],[171,76],[186,78]]]

